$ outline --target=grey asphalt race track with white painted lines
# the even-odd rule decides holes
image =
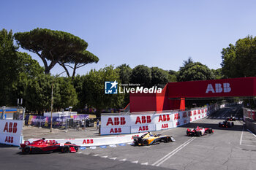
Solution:
[[[219,128],[226,117],[235,116],[232,128]],[[113,145],[86,148],[74,154],[22,155],[17,147],[0,148],[0,169],[256,169],[256,136],[244,127],[241,106],[225,107],[193,123],[159,131],[176,142],[145,147]],[[213,128],[214,134],[186,135],[187,128]]]

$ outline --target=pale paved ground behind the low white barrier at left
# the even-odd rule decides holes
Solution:
[[[109,136],[109,135],[108,135]],[[97,128],[90,127],[85,130],[76,130],[76,129],[58,129],[52,128],[52,132],[50,132],[50,128],[38,128],[33,126],[25,125],[23,127],[23,138],[24,140],[31,138],[51,138],[51,139],[78,139],[78,138],[91,138],[91,137],[104,137],[100,136]]]

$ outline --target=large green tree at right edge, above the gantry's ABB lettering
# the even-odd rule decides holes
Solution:
[[[238,39],[222,49],[222,72],[225,78],[256,76],[256,37]]]

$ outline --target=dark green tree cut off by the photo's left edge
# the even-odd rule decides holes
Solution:
[[[13,44],[12,31],[0,31],[0,106],[10,104],[12,83],[17,78],[17,46]]]

